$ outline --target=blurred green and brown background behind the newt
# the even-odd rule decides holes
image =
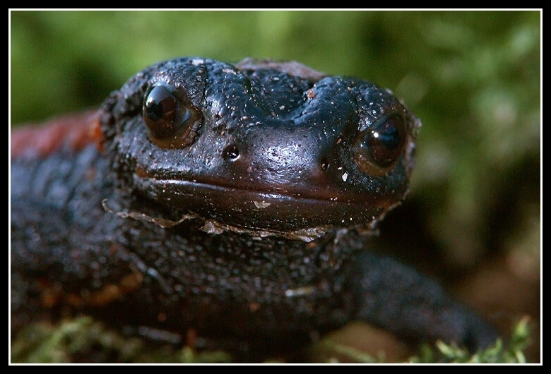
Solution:
[[[410,195],[374,251],[437,277],[505,335],[529,315],[540,362],[541,16],[11,11],[11,126],[98,107],[176,56],[296,60],[390,88],[423,127]]]

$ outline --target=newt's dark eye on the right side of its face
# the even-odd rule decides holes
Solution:
[[[405,119],[394,114],[385,116],[355,144],[355,162],[364,173],[386,174],[402,155],[405,145]]]

